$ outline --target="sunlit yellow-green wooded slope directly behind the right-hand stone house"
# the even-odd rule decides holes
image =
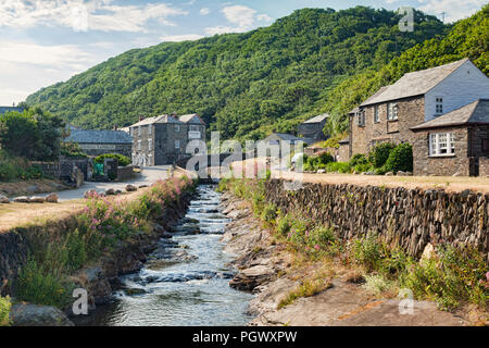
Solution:
[[[381,86],[391,85],[405,73],[447,64],[464,58],[489,75],[489,4],[469,18],[457,22],[446,38],[432,38],[394,58],[380,70],[356,74],[339,84],[319,111],[331,114],[329,133],[348,128],[347,113]]]

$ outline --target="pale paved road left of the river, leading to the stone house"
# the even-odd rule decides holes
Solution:
[[[55,192],[59,196],[60,201],[67,201],[73,199],[79,199],[83,198],[85,192],[89,189],[95,189],[98,192],[105,191],[109,188],[114,189],[122,189],[126,187],[126,185],[131,184],[135,186],[139,185],[151,185],[159,179],[165,179],[170,176],[170,169],[171,165],[164,165],[164,166],[151,166],[151,167],[143,167],[141,174],[134,179],[122,182],[122,183],[92,183],[92,182],[86,182],[84,185],[82,185],[80,188],[72,189],[72,190],[65,190],[65,191],[59,191]],[[39,197],[46,197],[49,194],[43,195],[37,195]]]

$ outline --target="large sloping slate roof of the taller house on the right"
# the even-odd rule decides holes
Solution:
[[[364,101],[360,107],[426,95],[447,76],[468,61],[469,59],[466,58],[450,64],[408,73],[396,84],[385,87],[384,90],[377,91],[377,94]]]

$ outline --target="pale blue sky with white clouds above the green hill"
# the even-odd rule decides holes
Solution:
[[[487,0],[0,0],[0,105],[162,41],[268,26],[303,8],[413,7],[454,22]]]

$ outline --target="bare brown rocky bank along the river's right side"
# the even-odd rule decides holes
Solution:
[[[237,254],[233,264],[239,273],[229,285],[252,291],[255,297],[248,312],[255,316],[250,325],[259,326],[351,326],[351,325],[408,325],[460,326],[468,324],[461,315],[437,309],[435,302],[413,301],[412,311],[405,311],[398,298],[377,298],[363,287],[363,277],[351,270],[327,270],[329,284],[311,297],[301,297],[280,309],[281,300],[298,288],[305,274],[313,272],[308,265],[297,268],[287,246],[277,243],[263,223],[252,214],[249,202],[229,194],[222,197],[223,213],[233,220],[223,241],[226,251]],[[331,272],[329,272],[331,271]],[[401,304],[401,306],[400,306]],[[400,311],[401,308],[401,311]],[[405,314],[401,314],[405,313]]]

